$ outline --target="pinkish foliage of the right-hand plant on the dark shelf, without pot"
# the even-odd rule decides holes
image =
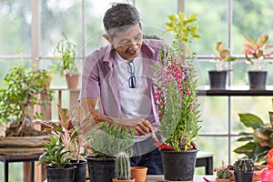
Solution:
[[[262,66],[260,66],[260,62],[265,57],[273,55],[273,51],[268,51],[273,47],[273,45],[266,45],[269,36],[262,34],[258,37],[256,42],[248,36],[244,36],[244,38],[247,40],[248,44],[244,44],[247,46],[247,49],[243,50],[243,53],[245,54],[247,61],[253,66],[255,65],[255,61],[252,59],[256,59],[256,71],[259,71],[262,68]],[[266,51],[268,52],[266,53]]]

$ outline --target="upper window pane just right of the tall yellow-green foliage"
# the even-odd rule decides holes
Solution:
[[[185,11],[187,16],[197,14],[201,38],[191,45],[194,52],[210,56],[219,39],[227,45],[227,0],[186,1]]]

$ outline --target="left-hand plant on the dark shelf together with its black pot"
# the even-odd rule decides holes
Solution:
[[[227,71],[224,69],[227,62],[235,61],[237,57],[230,56],[230,51],[225,48],[221,41],[216,42],[217,57],[214,58],[216,70],[208,71],[210,89],[225,89],[227,82]]]

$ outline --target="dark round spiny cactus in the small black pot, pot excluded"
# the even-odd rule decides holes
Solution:
[[[254,171],[254,162],[248,157],[238,158],[234,163],[234,170],[237,172],[252,172]]]

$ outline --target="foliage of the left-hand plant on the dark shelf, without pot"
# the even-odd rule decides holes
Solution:
[[[237,57],[235,56],[230,56],[230,50],[225,48],[225,45],[222,41],[218,40],[216,42],[215,48],[218,54],[218,56],[214,58],[217,71],[223,71],[223,66],[225,65],[225,63],[235,61],[237,59]]]

